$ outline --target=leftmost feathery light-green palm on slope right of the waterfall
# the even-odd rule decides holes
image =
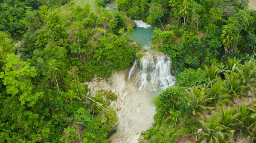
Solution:
[[[198,87],[190,87],[185,90],[186,94],[184,98],[187,101],[187,104],[189,106],[192,106],[193,115],[198,115],[201,116],[201,111],[203,109],[213,109],[213,107],[206,106],[207,103],[212,99],[212,98],[207,98],[207,95],[205,94],[205,90],[203,87],[198,88]]]

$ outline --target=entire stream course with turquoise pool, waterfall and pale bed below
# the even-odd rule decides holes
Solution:
[[[105,8],[116,7],[114,0]],[[171,60],[166,54],[151,49],[151,36],[154,27],[142,20],[134,20],[136,27],[130,37],[138,41],[141,48],[146,48],[145,56],[136,58],[126,70],[113,72],[108,79],[94,78],[87,82],[90,95],[96,90],[107,90],[118,96],[111,102],[116,109],[119,124],[116,132],[109,138],[111,143],[138,143],[140,133],[154,123],[155,107],[151,100],[167,87],[175,85],[175,76],[171,74]]]

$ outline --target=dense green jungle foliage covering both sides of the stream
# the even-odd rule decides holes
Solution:
[[[0,143],[108,143],[114,93],[85,81],[140,49],[122,12],[159,25],[152,48],[175,65],[141,143],[256,143],[256,11],[248,0],[0,0]],[[202,129],[198,131],[198,129]],[[185,140],[186,141],[186,140]]]

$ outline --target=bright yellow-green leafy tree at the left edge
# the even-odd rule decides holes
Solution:
[[[35,105],[43,95],[43,92],[35,92],[35,87],[31,82],[35,76],[35,67],[30,67],[29,63],[22,62],[14,53],[7,55],[4,72],[0,73],[7,93],[17,96],[20,104],[27,104],[29,107]]]

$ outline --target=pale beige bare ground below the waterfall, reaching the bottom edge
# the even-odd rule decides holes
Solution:
[[[111,103],[119,118],[116,133],[110,137],[111,143],[137,143],[140,132],[149,129],[154,123],[155,107],[151,105],[149,92],[138,92],[136,87],[125,81],[126,70],[113,72],[108,79],[94,78],[87,82],[94,95],[96,90],[111,90],[118,95],[116,101]],[[136,135],[137,134],[137,135]]]

